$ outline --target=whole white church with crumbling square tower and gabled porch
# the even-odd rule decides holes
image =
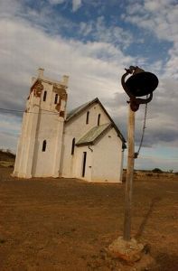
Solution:
[[[126,140],[98,98],[66,112],[68,77],[33,78],[13,175],[122,182]]]

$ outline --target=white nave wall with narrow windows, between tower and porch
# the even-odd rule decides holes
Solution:
[[[89,111],[89,124],[86,124],[87,112]],[[75,138],[76,142],[81,136],[85,135],[92,127],[98,125],[98,114],[100,114],[100,125],[110,123],[110,119],[97,103],[91,105],[85,112],[81,113],[78,117],[74,117],[64,126],[63,135],[63,155],[61,163],[61,175],[63,177],[76,177],[73,173],[75,168],[75,156],[71,155],[72,139]],[[77,147],[75,147],[77,149]],[[89,149],[88,149],[89,151]],[[77,167],[80,165],[77,165]],[[79,175],[79,174],[78,174]]]

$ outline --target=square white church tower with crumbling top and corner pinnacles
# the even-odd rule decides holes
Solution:
[[[66,117],[69,77],[48,79],[38,70],[33,78],[19,138],[13,175],[20,178],[58,177]]]

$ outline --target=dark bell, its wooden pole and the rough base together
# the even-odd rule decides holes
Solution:
[[[153,98],[153,91],[158,86],[155,74],[138,67],[130,66],[121,78],[121,83],[126,94],[130,98],[128,107],[127,126],[127,168],[126,168],[126,193],[125,193],[125,216],[123,236],[118,237],[108,247],[108,251],[114,257],[120,257],[128,264],[134,265],[143,256],[144,245],[135,238],[131,238],[132,220],[132,193],[134,179],[134,162],[137,158],[135,153],[135,115],[141,104],[147,105]],[[129,76],[130,75],[130,76]],[[128,79],[126,79],[126,77]],[[146,98],[140,98],[146,96]],[[142,137],[143,138],[143,137]],[[145,262],[145,267],[147,263]],[[135,268],[137,270],[137,268]]]

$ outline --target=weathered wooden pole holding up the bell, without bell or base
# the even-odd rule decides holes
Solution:
[[[132,207],[132,183],[134,175],[134,154],[135,154],[135,112],[129,104],[128,126],[127,126],[127,169],[126,169],[126,194],[125,194],[125,220],[124,239],[130,240],[131,235],[131,207]]]

